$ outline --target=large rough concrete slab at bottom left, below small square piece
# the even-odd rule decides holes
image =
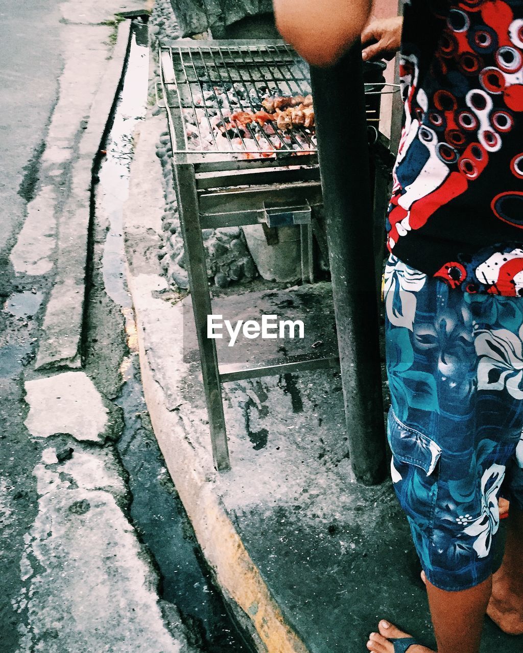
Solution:
[[[158,605],[158,577],[118,505],[127,488],[114,454],[77,447],[60,464],[50,447],[34,473],[39,512],[16,605],[29,615],[20,653],[180,653]]]

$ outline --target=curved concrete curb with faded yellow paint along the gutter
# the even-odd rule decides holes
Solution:
[[[161,343],[161,351],[168,352],[169,367],[177,370],[181,379],[186,364],[176,336],[171,340],[170,334],[182,329],[182,305],[169,302],[169,288],[159,274],[156,257],[163,191],[155,144],[161,129],[165,129],[165,121],[148,116],[135,133],[137,147],[124,206],[127,283],[136,313],[142,383],[152,426],[199,545],[237,620],[260,651],[307,653],[299,635],[286,623],[220,499],[220,484],[226,480],[212,466],[209,435],[204,439],[209,446],[199,445],[201,438],[194,434],[202,425],[184,418],[179,410],[183,400],[176,388],[169,388],[162,372],[161,358],[165,357],[155,350],[155,343]]]

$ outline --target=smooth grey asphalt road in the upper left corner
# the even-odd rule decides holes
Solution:
[[[21,226],[34,185],[33,163],[56,102],[62,67],[58,4],[0,4],[0,255]]]

